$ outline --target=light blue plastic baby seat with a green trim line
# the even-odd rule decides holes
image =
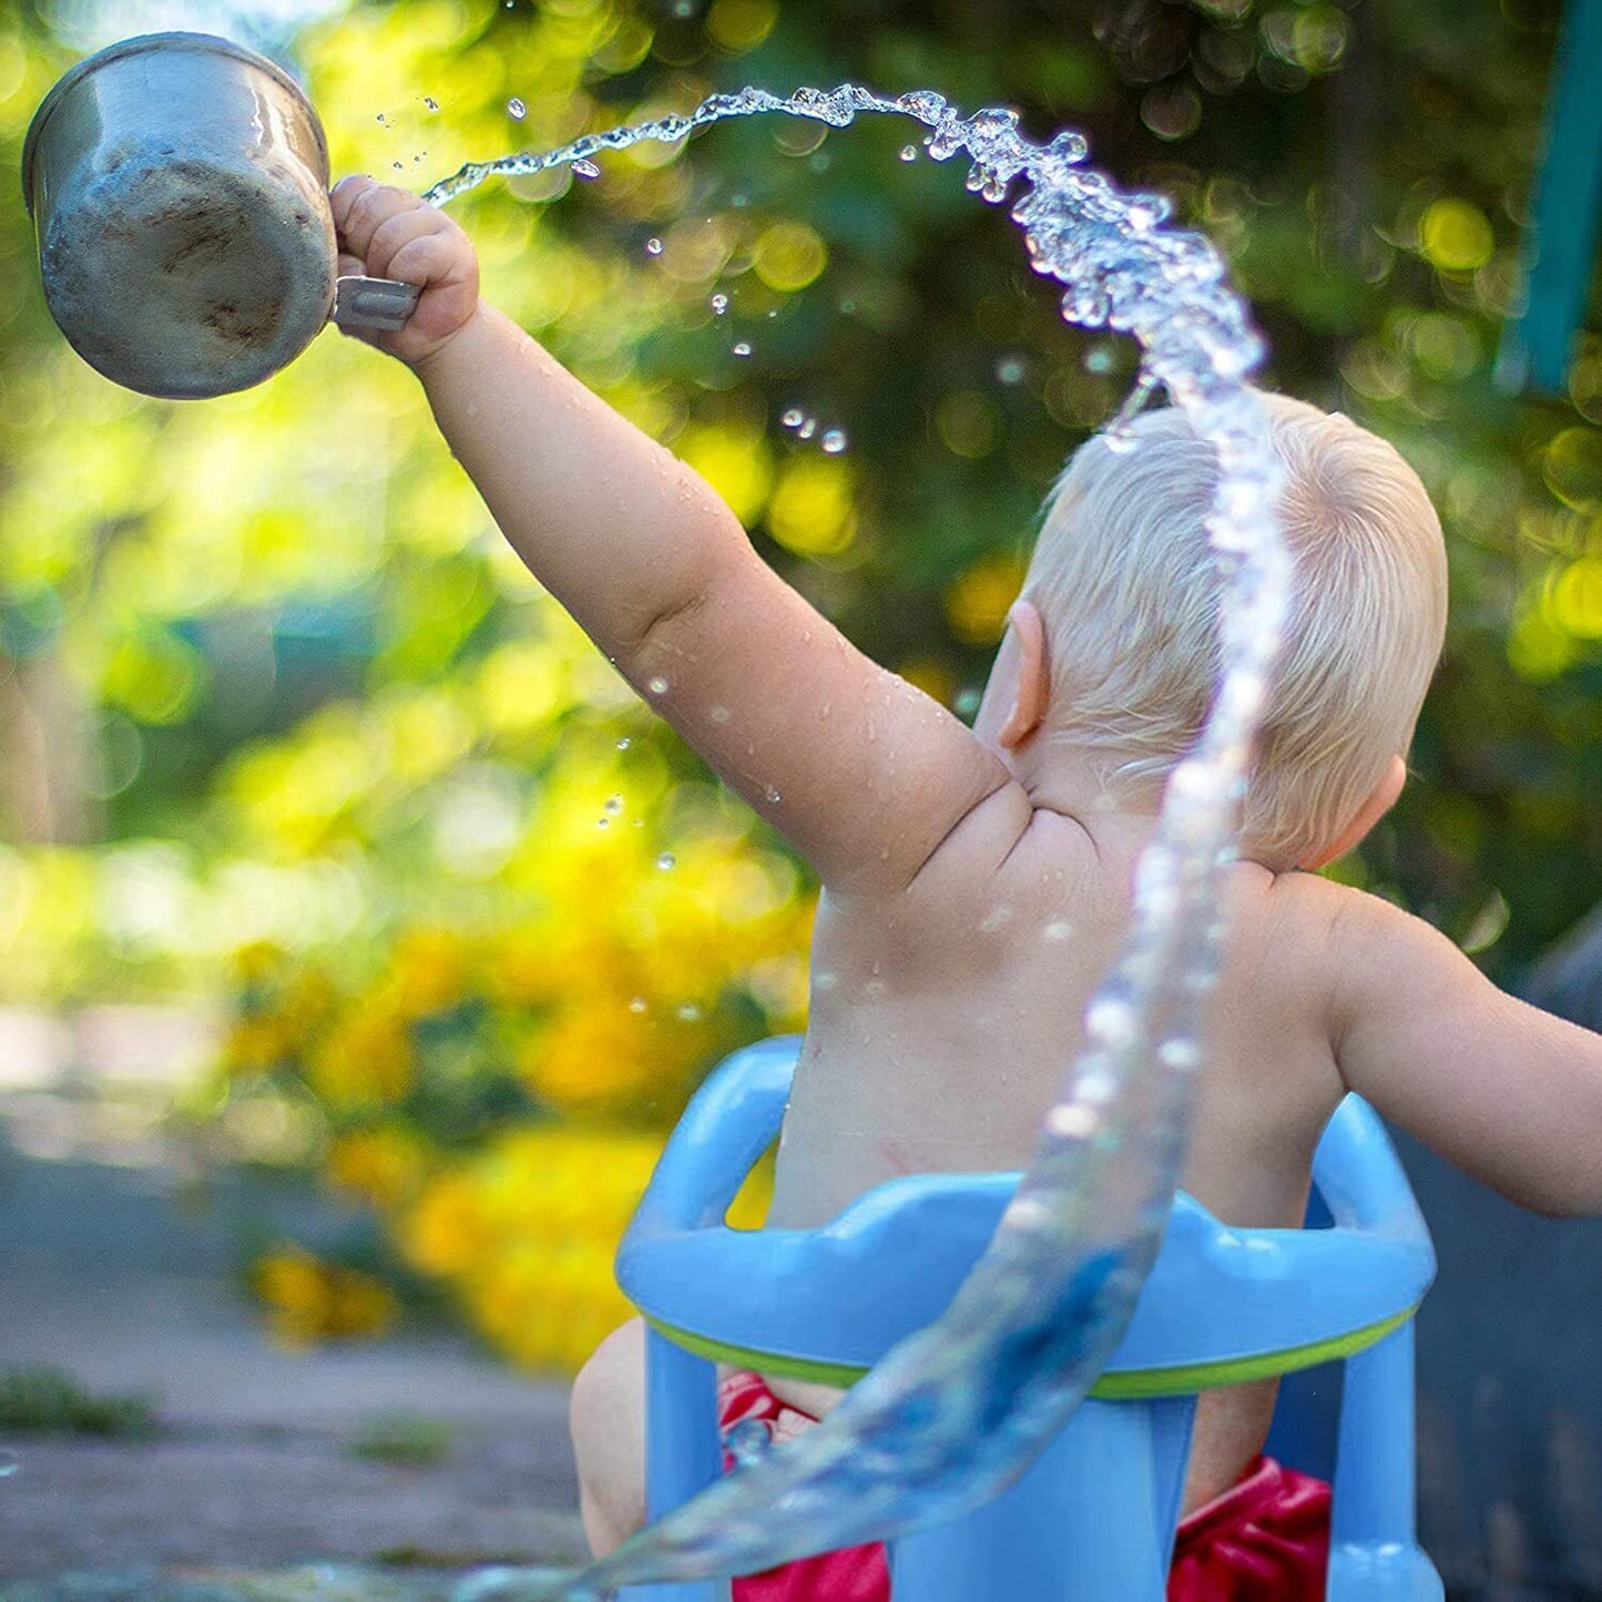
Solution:
[[[939,1317],[1017,1182],[908,1176],[820,1229],[729,1229],[729,1203],[779,1133],[798,1046],[763,1041],[706,1080],[618,1250],[618,1282],[649,1325],[652,1517],[719,1472],[716,1362],[849,1384]],[[1384,1128],[1355,1096],[1325,1131],[1314,1184],[1333,1227],[1230,1229],[1181,1193],[1091,1397],[1011,1490],[892,1544],[896,1602],[1160,1602],[1197,1392],[1336,1360],[1330,1602],[1439,1602],[1413,1530],[1411,1315],[1435,1258]],[[1282,1402],[1272,1448],[1302,1466],[1291,1413]],[[724,1602],[727,1583],[623,1596]]]

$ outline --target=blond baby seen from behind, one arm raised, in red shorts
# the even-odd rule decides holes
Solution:
[[[375,343],[413,367],[506,538],[822,879],[772,1222],[819,1224],[896,1174],[1025,1166],[1125,936],[1163,780],[1214,687],[1211,449],[1160,410],[1134,425],[1133,452],[1091,441],[1073,457],[969,729],[863,657],[695,473],[482,304],[453,221],[365,178],[344,179],[333,207],[341,271],[423,285],[405,330]],[[1424,923],[1310,871],[1402,790],[1447,564],[1424,489],[1389,445],[1344,417],[1262,402],[1299,599],[1227,870],[1184,1187],[1230,1224],[1299,1226],[1314,1149],[1355,1089],[1525,1206],[1602,1211],[1602,1036],[1503,995]],[[598,1552],[642,1520],[641,1349],[638,1323],[617,1331],[574,1391]],[[783,1432],[835,1394],[742,1375],[724,1400],[726,1418]],[[1210,1522],[1195,1512],[1243,1485],[1259,1527],[1317,1511],[1320,1487],[1259,1458],[1272,1407],[1272,1383],[1203,1397],[1181,1554]],[[875,1549],[820,1565],[811,1589],[753,1580],[735,1596],[886,1594]]]

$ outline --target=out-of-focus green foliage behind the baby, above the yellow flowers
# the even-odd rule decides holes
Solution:
[[[1584,910],[1602,849],[1602,340],[1565,397],[1490,383],[1556,13],[405,0],[293,48],[336,168],[405,183],[711,88],[855,78],[1016,104],[1041,135],[1073,123],[1120,181],[1173,195],[1229,253],[1267,381],[1386,433],[1440,505],[1455,623],[1419,782],[1349,870],[1507,977]],[[67,61],[37,11],[0,22],[13,170]],[[461,216],[495,298],[719,479],[854,638],[955,698],[982,681],[1041,492],[1133,357],[1062,325],[958,173],[897,160],[912,131],[759,119],[572,192],[498,186]],[[8,992],[173,988],[244,937],[381,939],[418,897],[449,916],[490,847],[442,862],[441,807],[516,830],[492,814],[524,806],[553,747],[631,711],[577,642],[545,718],[506,731],[469,705],[514,673],[509,646],[562,623],[402,372],[330,335],[255,392],[146,402],[66,349],[30,250],[6,187],[5,833],[95,849],[0,857]],[[817,418],[811,441],[790,409]],[[827,428],[849,436],[838,460]],[[787,505],[795,529],[833,508],[833,537],[785,540]]]

